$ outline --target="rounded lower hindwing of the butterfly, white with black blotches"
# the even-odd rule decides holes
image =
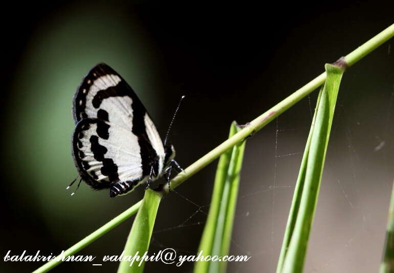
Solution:
[[[83,178],[89,176],[87,182],[94,188],[142,179],[139,147],[132,143],[137,143],[137,137],[121,127],[100,119],[82,119],[74,131],[73,154]]]

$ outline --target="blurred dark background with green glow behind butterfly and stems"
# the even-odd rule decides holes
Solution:
[[[394,22],[391,1],[8,5],[0,19],[3,256],[8,250],[57,255],[143,196],[143,187],[115,199],[86,184],[73,197],[65,191],[77,174],[72,97],[98,62],[135,89],[162,136],[186,95],[170,137],[186,167],[225,140],[232,120],[252,120],[319,75],[325,62]],[[305,272],[378,270],[394,178],[393,52],[391,40],[343,77]],[[252,258],[229,263],[229,272],[276,268],[316,94],[247,142],[230,254]],[[215,165],[163,200],[150,251],[196,253],[206,219],[198,206],[208,211]],[[79,254],[119,255],[132,221]],[[42,264],[4,263],[3,257],[0,263],[2,272]],[[112,272],[117,266],[74,262],[53,271]],[[146,272],[158,270],[190,272],[192,263],[145,265]]]

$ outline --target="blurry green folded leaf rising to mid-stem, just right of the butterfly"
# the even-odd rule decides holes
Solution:
[[[229,138],[240,130],[233,121]],[[198,250],[198,253],[203,251],[205,257],[228,255],[244,150],[245,141],[221,155],[217,164],[209,213]],[[225,272],[226,265],[225,261],[196,261],[193,272]]]

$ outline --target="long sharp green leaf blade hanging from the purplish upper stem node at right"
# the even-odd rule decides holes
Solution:
[[[306,153],[297,179],[297,183],[302,185],[302,190],[300,186],[296,186],[297,191],[293,197],[296,201],[293,201],[292,205],[297,207],[291,209],[286,227],[291,232],[288,233],[286,230],[279,256],[277,272],[281,273],[302,272],[307,253],[335,105],[344,72],[344,67],[337,65],[326,64],[325,69],[328,76],[319,94],[310,136],[305,146]]]

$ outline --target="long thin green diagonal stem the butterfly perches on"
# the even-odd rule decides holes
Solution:
[[[371,51],[375,50],[377,47],[382,45],[385,41],[390,39],[392,36],[394,36],[394,24],[380,32],[378,35],[375,37],[371,38],[368,40],[365,44],[362,46],[358,47],[356,50],[352,51],[348,55],[345,56],[345,60],[347,62],[348,66],[354,65],[357,61],[359,61],[361,58],[366,56],[368,53]],[[269,122],[271,122],[274,118],[279,116],[281,113],[292,107],[296,102],[301,100],[303,97],[314,91],[316,88],[321,86],[326,78],[325,72],[311,80],[309,83],[298,89],[296,92],[291,94],[289,97],[283,99],[280,101],[278,104],[276,104],[274,107],[272,107],[270,110],[267,112],[263,113],[253,121],[249,123],[249,126],[245,127],[243,130],[239,131],[237,134],[235,134],[233,137],[227,139],[225,142],[222,144],[218,145],[215,149],[210,151],[208,154],[200,158],[199,160],[195,161],[193,164],[191,164],[187,169],[185,169],[185,172],[182,172],[178,174],[176,177],[174,177],[171,180],[171,188],[176,188],[180,184],[182,184],[186,179],[190,178],[193,176],[195,173],[203,169],[206,165],[211,163],[213,160],[215,160],[217,157],[219,157],[221,154],[226,152],[228,149],[231,149],[236,143],[239,141],[242,141],[252,133],[255,133],[259,131],[262,127],[267,125]],[[168,193],[170,190],[169,184],[166,184],[164,187],[164,190]],[[108,232],[108,230],[112,229],[113,227],[117,226],[127,218],[133,216],[136,212],[139,206],[141,205],[141,201],[138,203],[134,204],[132,207],[127,209],[125,212],[123,212],[121,215],[117,216],[104,226],[100,227],[97,229],[95,232],[93,232],[91,235],[87,236],[86,238],[89,238],[88,240],[83,239],[77,244],[73,245],[69,249],[65,251],[68,255],[73,255],[75,254],[78,250],[82,249],[86,245],[89,245],[91,242],[96,240],[97,238],[101,237],[104,233]],[[133,209],[132,209],[133,208]],[[118,220],[118,218],[122,216],[121,221]],[[105,227],[105,228],[104,228]],[[61,262],[61,261],[60,261]],[[44,264],[43,266],[39,267],[36,271],[34,272],[46,272],[49,269],[53,268],[60,262],[48,262],[47,264],[50,264],[48,266],[47,264]]]

